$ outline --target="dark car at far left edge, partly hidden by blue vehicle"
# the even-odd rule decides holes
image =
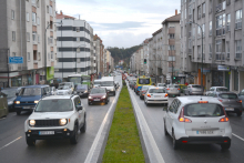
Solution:
[[[14,111],[13,102],[17,98],[16,94],[19,93],[20,89],[21,88],[6,88],[1,90],[1,92],[7,95],[9,111]]]

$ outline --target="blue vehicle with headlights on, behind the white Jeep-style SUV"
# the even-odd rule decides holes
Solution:
[[[20,115],[22,111],[33,111],[35,104],[43,96],[50,95],[49,85],[29,85],[22,86],[20,92],[17,93],[17,99],[14,100],[14,110],[17,115]]]

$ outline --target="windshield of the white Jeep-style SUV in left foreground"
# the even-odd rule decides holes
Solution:
[[[68,112],[73,105],[70,99],[41,100],[35,108],[35,112]]]

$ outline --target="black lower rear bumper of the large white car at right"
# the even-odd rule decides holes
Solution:
[[[231,143],[231,139],[228,136],[189,136],[181,137],[177,142],[182,144],[222,144]]]

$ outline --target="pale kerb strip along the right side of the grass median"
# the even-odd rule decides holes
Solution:
[[[132,91],[129,89],[130,86],[128,86],[128,90],[130,92],[130,95],[132,98],[132,103],[134,105],[134,110],[135,110],[135,113],[136,113],[136,116],[138,116],[138,120],[139,120],[139,124],[140,124],[140,129],[141,129],[141,132],[142,132],[142,136],[143,139],[148,139],[149,141],[145,141],[145,146],[146,146],[146,151],[148,151],[148,154],[149,154],[149,159],[150,159],[150,162],[154,162],[154,160],[156,159],[156,161],[159,163],[165,163],[164,162],[164,159],[156,145],[156,142],[152,135],[152,132],[145,121],[145,118],[138,104],[138,101],[136,99],[134,98],[134,95],[131,93]],[[151,146],[151,147],[150,147]],[[153,152],[152,152],[152,151]]]

